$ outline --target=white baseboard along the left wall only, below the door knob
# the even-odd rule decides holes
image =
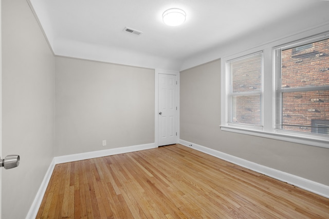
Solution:
[[[42,182],[41,182],[41,186],[38,190],[38,192],[35,195],[35,198],[33,200],[33,203],[31,205],[31,208],[29,210],[29,212],[27,213],[26,219],[32,219],[36,217],[36,214],[38,214],[41,202],[42,202],[42,198],[46,192],[47,186],[49,184],[53,169],[55,168],[55,161],[54,159],[52,159],[49,168],[45,174],[45,177],[43,178]]]

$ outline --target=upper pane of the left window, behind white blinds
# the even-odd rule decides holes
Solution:
[[[262,90],[263,54],[230,62],[231,92]]]

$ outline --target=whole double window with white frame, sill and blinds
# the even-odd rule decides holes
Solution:
[[[328,33],[221,60],[221,130],[329,148]]]

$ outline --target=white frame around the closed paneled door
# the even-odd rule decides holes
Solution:
[[[154,71],[154,96],[155,96],[155,111],[154,111],[154,142],[155,142],[155,147],[159,147],[159,141],[158,141],[158,136],[159,136],[159,74],[165,74],[165,75],[175,75],[177,77],[177,136],[176,136],[176,143],[179,142],[179,84],[180,84],[180,77],[179,77],[179,71],[172,71],[172,70],[163,70],[163,69],[158,69],[156,68]],[[1,219],[1,218],[0,218]]]

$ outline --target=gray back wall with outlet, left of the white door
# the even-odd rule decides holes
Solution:
[[[56,57],[55,120],[55,156],[153,143],[154,69]]]

